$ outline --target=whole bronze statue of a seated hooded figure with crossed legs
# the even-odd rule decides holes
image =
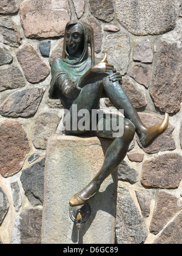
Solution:
[[[89,55],[89,44],[91,56]],[[70,200],[70,206],[83,205],[99,190],[101,183],[120,165],[126,157],[129,145],[135,132],[143,147],[150,146],[168,127],[169,115],[166,113],[163,123],[146,127],[141,122],[138,113],[121,87],[122,76],[114,66],[104,59],[95,58],[93,29],[84,21],[70,21],[67,23],[64,35],[64,49],[62,59],[55,59],[52,64],[52,81],[49,97],[61,99],[64,108],[72,115],[73,104],[78,111],[85,108],[92,112],[98,108],[102,97],[110,99],[118,109],[124,110],[124,134],[113,138],[113,130],[106,129],[88,132],[87,130],[66,130],[66,135],[90,135],[112,140],[101,170],[94,179]],[[91,122],[91,120],[90,120]],[[98,121],[106,123],[103,118]]]

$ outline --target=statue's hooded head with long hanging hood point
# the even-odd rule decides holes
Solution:
[[[93,29],[84,21],[70,21],[66,25],[62,58],[69,58],[78,63],[89,56],[91,48],[92,65],[94,65]]]

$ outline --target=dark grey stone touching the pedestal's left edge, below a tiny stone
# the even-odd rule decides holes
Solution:
[[[21,174],[21,183],[32,205],[42,205],[44,197],[44,166],[45,158],[36,162]]]

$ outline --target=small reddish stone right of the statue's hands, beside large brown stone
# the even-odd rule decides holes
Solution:
[[[150,85],[150,74],[151,68],[149,66],[135,65],[130,73],[130,77],[133,77],[138,84],[148,88]]]

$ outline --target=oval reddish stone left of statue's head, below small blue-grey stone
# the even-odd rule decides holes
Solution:
[[[17,52],[17,58],[22,66],[26,79],[30,83],[38,83],[50,73],[50,68],[42,60],[31,44],[25,44]]]

